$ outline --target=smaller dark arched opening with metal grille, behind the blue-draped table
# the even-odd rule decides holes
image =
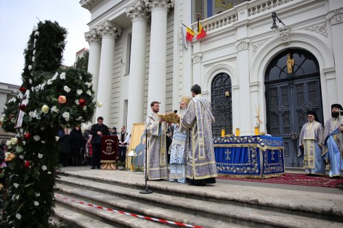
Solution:
[[[212,114],[215,124],[212,125],[213,137],[220,137],[222,129],[226,134],[233,133],[233,109],[231,97],[231,79],[226,73],[215,75],[211,84]]]

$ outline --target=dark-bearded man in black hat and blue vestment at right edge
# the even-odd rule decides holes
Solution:
[[[331,116],[325,124],[324,129],[324,147],[323,157],[327,162],[330,162],[329,177],[343,176],[343,159],[342,159],[342,131],[343,119],[340,118],[339,110],[342,105],[331,105]]]

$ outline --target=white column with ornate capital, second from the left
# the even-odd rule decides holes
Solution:
[[[97,28],[97,31],[102,36],[97,100],[103,103],[103,106],[97,107],[96,117],[104,117],[104,123],[109,125],[115,38],[121,34],[121,29],[117,29],[110,21],[105,21]]]

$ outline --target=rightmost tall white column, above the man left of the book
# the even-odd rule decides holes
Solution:
[[[150,61],[149,85],[147,91],[147,108],[152,101],[160,101],[160,113],[165,112],[165,86],[167,62],[167,12],[174,4],[170,0],[145,0],[150,8]]]

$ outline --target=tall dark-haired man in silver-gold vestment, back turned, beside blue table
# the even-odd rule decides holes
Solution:
[[[193,98],[184,116],[180,116],[180,131],[188,130],[187,181],[191,185],[204,186],[215,183],[217,167],[213,149],[212,124],[215,119],[211,103],[201,94],[201,88],[191,88]]]

